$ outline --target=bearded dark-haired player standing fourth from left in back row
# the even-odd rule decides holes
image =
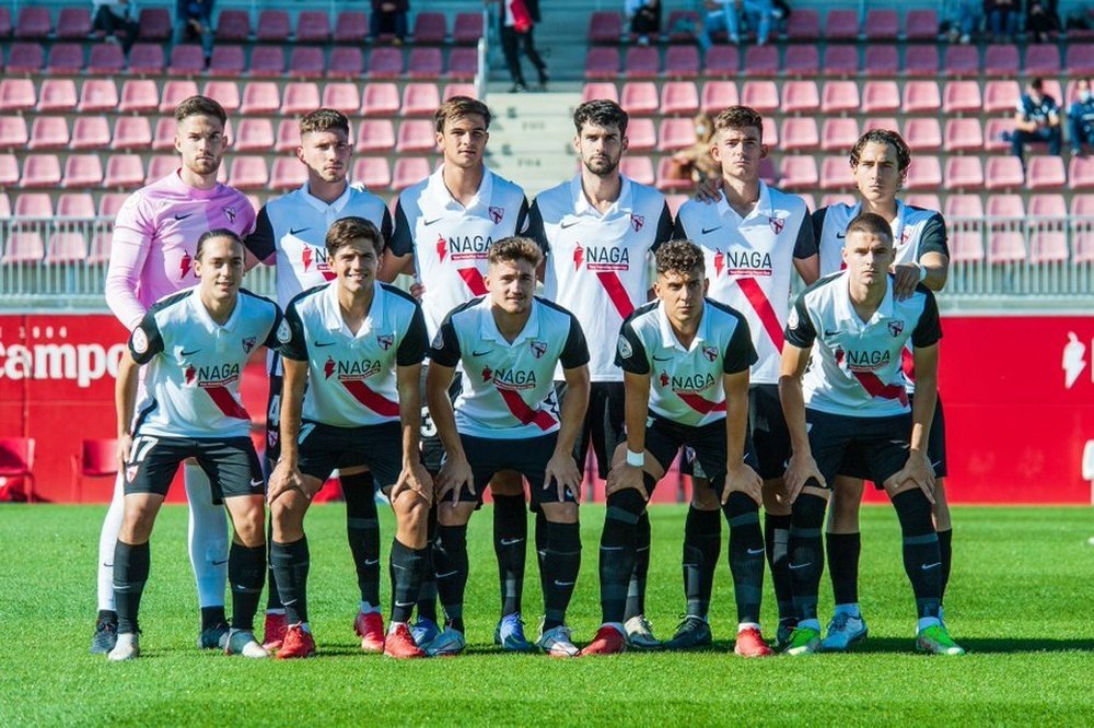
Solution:
[[[573,148],[581,173],[536,197],[529,235],[547,250],[544,297],[578,317],[589,342],[592,380],[589,411],[574,459],[584,468],[592,445],[602,479],[607,478],[616,446],[624,442],[622,372],[613,343],[624,319],[649,300],[650,258],[673,232],[665,197],[653,187],[619,174],[627,150],[627,113],[610,101],[591,101],[573,114]],[[654,223],[656,221],[656,223]],[[556,372],[556,380],[561,372]],[[556,387],[565,401],[565,385]],[[536,518],[540,554],[546,525]],[[637,648],[661,643],[645,619],[645,575],[650,568],[650,517],[638,522],[635,574],[627,596],[627,638]]]

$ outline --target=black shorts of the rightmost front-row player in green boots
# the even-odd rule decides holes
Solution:
[[[908,461],[910,413],[852,418],[806,408],[805,423],[813,459],[828,488],[840,473],[872,480],[883,488]],[[853,471],[849,465],[853,465]]]

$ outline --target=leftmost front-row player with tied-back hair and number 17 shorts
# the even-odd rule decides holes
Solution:
[[[240,378],[256,347],[277,347],[281,314],[272,301],[240,290],[243,242],[230,230],[197,240],[197,287],[153,305],[129,337],[118,371],[118,459],[125,509],[114,550],[118,612],[114,661],[140,655],[137,620],[149,575],[149,537],[178,465],[195,458],[232,518],[228,555],[232,629],[220,641],[228,654],[266,657],[255,641],[263,592],[263,470],[251,442],[251,415],[240,402]],[[138,372],[148,365],[137,407]],[[136,418],[135,418],[136,414]]]

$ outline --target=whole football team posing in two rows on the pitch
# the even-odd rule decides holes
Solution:
[[[868,632],[858,509],[871,481],[900,522],[916,648],[963,654],[942,610],[952,527],[932,291],[948,250],[942,216],[897,197],[910,154],[895,131],[869,131],[851,150],[857,203],[811,214],[760,179],[760,116],[726,108],[710,149],[721,176],[674,219],[661,192],[620,175],[628,118],[614,102],[577,108],[580,171],[529,204],[484,164],[488,107],[457,96],[435,114],[442,163],[393,215],[348,178],[349,120],[321,108],[300,121],[307,181],[256,218],[217,181],[229,145],[220,105],[195,96],[175,118],[179,168],[133,193],[114,228],[106,296],[130,338],[92,653],[140,654],[149,538],[183,465],[201,648],[316,653],[304,522],[337,471],[364,651],[463,651],[467,621],[486,618],[465,613],[464,594],[467,524],[488,489],[503,650],[711,644],[723,517],[735,653],[846,650]],[[241,287],[259,263],[276,267],[277,303]],[[400,274],[409,292],[392,285]],[[794,277],[807,287],[792,304]],[[238,394],[261,347],[265,463]],[[606,479],[602,625],[582,648],[566,617],[590,449]],[[644,604],[647,504],[678,455],[694,485],[686,608],[662,642]],[[386,629],[377,501],[395,521]],[[522,619],[528,508],[544,599],[534,639]],[[823,634],[826,562],[836,606]],[[770,642],[759,623],[768,570]]]

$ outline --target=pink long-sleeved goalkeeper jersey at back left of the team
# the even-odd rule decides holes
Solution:
[[[251,202],[226,185],[195,189],[176,169],[129,196],[114,223],[106,271],[106,304],[126,328],[160,298],[197,284],[198,238],[217,227],[241,237],[255,227]]]

